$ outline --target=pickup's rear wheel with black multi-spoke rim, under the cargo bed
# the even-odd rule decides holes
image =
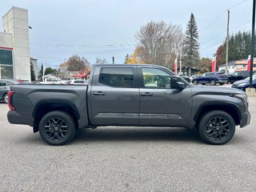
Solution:
[[[39,133],[42,139],[51,146],[64,145],[75,135],[74,118],[63,111],[52,111],[42,117],[39,123]]]

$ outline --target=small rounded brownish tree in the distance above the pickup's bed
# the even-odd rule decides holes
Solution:
[[[90,66],[90,62],[84,57],[73,55],[67,60],[66,65],[69,71],[79,71],[86,70],[86,66]]]

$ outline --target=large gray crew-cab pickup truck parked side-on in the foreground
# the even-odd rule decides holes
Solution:
[[[187,127],[219,145],[250,122],[242,90],[194,86],[154,65],[95,65],[88,86],[13,85],[8,99],[9,122],[33,126],[50,145],[97,126]]]

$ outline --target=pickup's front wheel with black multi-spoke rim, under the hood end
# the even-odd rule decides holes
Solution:
[[[203,141],[222,145],[234,136],[234,119],[222,110],[214,110],[205,114],[199,122],[198,132]]]

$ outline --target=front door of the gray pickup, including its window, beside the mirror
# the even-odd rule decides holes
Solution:
[[[186,126],[191,114],[191,90],[172,89],[165,70],[138,68],[141,76],[139,124],[141,126]],[[184,82],[185,83],[185,82]]]

